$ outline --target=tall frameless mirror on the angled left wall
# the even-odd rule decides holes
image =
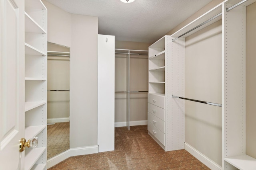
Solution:
[[[48,42],[47,159],[70,149],[70,48]]]

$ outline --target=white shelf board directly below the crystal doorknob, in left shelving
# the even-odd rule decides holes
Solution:
[[[25,170],[30,170],[45,150],[46,147],[25,149]]]

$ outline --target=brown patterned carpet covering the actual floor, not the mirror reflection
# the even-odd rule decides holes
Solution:
[[[49,170],[210,170],[186,150],[165,152],[147,126],[115,128],[115,150],[70,157]]]

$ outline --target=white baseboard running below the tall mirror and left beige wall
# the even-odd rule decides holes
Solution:
[[[98,146],[71,148],[47,160],[47,169],[71,156],[98,153]]]

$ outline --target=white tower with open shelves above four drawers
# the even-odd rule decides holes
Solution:
[[[165,35],[149,47],[148,132],[165,150],[184,149],[184,39]]]

